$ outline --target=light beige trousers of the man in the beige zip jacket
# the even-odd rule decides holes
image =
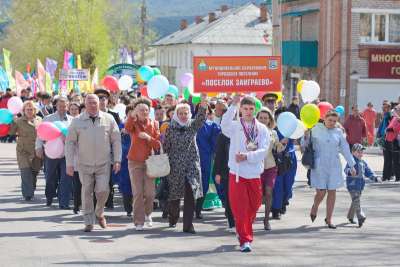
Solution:
[[[93,225],[95,219],[104,216],[104,205],[110,193],[110,167],[79,166],[79,179],[82,184],[82,209],[85,225]],[[93,192],[96,194],[96,207],[93,203]]]

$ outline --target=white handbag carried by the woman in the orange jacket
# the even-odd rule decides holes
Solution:
[[[167,176],[171,171],[169,166],[168,154],[164,153],[162,144],[160,144],[160,155],[155,155],[151,149],[151,155],[146,160],[146,174],[149,178],[155,179]]]

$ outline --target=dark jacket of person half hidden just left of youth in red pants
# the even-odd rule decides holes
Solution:
[[[228,179],[229,177],[228,160],[230,141],[228,137],[221,133],[217,138],[215,146],[215,175],[221,175],[222,179]]]

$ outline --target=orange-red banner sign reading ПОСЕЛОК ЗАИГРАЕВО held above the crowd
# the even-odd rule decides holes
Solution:
[[[281,57],[194,57],[195,92],[280,92]]]

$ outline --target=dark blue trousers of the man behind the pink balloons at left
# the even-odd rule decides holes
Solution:
[[[46,157],[46,199],[58,198],[60,207],[69,207],[72,196],[72,177],[66,173],[65,158],[49,159]]]

